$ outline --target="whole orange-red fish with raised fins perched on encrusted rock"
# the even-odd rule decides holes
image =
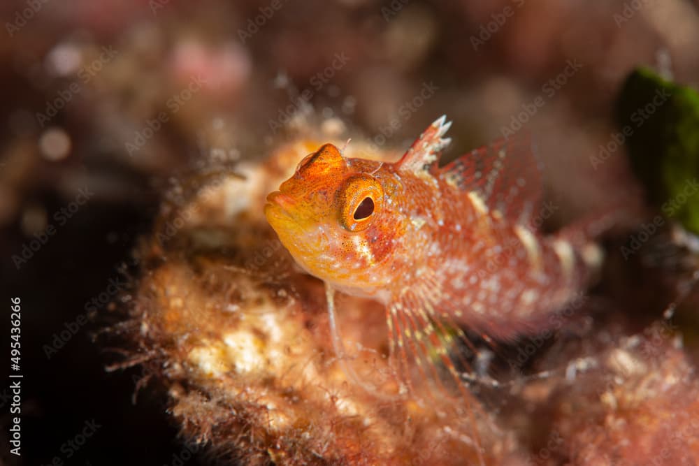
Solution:
[[[324,144],[264,207],[296,263],[326,286],[338,356],[335,293],[384,305],[404,392],[442,384],[445,372],[463,381],[455,340],[468,344],[467,330],[496,340],[538,330],[579,298],[603,259],[585,228],[542,232],[556,206],[542,201],[531,138],[497,140],[440,166],[451,124],[436,119],[395,162]]]

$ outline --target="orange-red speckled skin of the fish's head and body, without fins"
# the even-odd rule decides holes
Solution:
[[[416,145],[429,154],[435,143]],[[268,196],[266,217],[298,264],[333,289],[496,337],[526,332],[584,285],[586,244],[510,221],[435,157],[417,170],[405,158],[345,159],[326,144]],[[352,231],[359,222],[347,205],[367,194],[373,214]]]

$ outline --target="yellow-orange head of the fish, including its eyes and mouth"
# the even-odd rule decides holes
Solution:
[[[345,159],[336,146],[326,144],[301,160],[296,173],[267,196],[269,223],[311,275],[359,289],[389,279],[376,265],[391,253],[391,236],[398,228],[384,208],[391,189],[380,167]]]

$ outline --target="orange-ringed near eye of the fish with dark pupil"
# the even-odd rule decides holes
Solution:
[[[375,177],[365,173],[348,177],[338,191],[340,225],[353,232],[368,228],[381,208],[383,196],[383,188]]]

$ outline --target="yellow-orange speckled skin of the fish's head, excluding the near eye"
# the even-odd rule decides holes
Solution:
[[[410,228],[408,212],[401,214],[400,177],[387,163],[344,159],[333,145],[306,162],[268,197],[270,224],[310,274],[341,291],[380,296],[394,280],[392,271],[401,270],[398,259]],[[353,232],[340,223],[340,196],[347,178],[357,173],[373,173],[384,196],[368,228]]]

